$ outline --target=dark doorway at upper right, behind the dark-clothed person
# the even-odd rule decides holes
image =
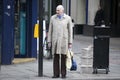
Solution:
[[[111,27],[111,36],[120,37],[120,0],[100,0],[105,10],[105,23]]]

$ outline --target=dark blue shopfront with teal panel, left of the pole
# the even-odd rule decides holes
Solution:
[[[16,57],[36,58],[37,0],[1,0],[0,6],[1,63],[11,64]]]

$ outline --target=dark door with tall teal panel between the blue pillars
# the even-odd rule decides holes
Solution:
[[[15,0],[15,56],[26,56],[26,0]]]

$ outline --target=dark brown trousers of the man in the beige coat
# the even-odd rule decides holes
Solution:
[[[60,64],[60,62],[61,62],[61,64]],[[60,65],[61,65],[61,67],[60,67]],[[60,73],[62,76],[66,75],[66,55],[61,54],[61,57],[60,57],[59,54],[54,54],[53,72],[54,72],[54,76],[59,76]]]

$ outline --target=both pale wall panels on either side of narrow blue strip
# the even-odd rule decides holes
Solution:
[[[88,25],[94,25],[100,0],[88,0]],[[71,17],[76,24],[86,24],[86,0],[71,0]]]

